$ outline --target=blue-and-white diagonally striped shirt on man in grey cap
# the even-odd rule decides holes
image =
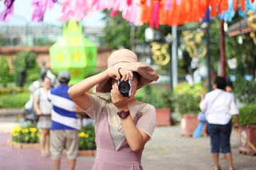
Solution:
[[[75,117],[76,104],[68,96],[68,84],[60,84],[50,89],[48,100],[53,104],[51,111],[51,130],[79,130],[78,120]]]

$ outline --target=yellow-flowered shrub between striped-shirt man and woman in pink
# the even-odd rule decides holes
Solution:
[[[95,128],[93,125],[87,125],[80,130],[79,149],[95,149]]]

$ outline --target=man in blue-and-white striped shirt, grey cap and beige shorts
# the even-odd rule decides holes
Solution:
[[[51,113],[52,127],[50,130],[50,152],[55,170],[60,169],[60,158],[65,147],[69,169],[75,169],[78,156],[79,125],[76,114],[76,104],[68,96],[68,81],[70,73],[66,70],[58,74],[60,85],[50,90],[48,100],[53,104]]]

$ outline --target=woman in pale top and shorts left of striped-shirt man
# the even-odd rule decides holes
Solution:
[[[41,156],[47,157],[50,147],[50,127],[51,119],[50,112],[52,105],[47,99],[48,91],[50,90],[51,82],[50,78],[45,77],[43,79],[43,87],[35,91],[33,105],[36,110],[36,115],[39,116],[37,128],[41,129],[40,145]]]

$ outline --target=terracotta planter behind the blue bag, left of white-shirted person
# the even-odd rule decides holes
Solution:
[[[184,136],[192,136],[193,132],[199,125],[199,121],[197,120],[197,114],[189,115],[183,114],[181,118],[181,135]],[[206,136],[206,123],[203,125],[203,130],[201,132],[201,136]]]

